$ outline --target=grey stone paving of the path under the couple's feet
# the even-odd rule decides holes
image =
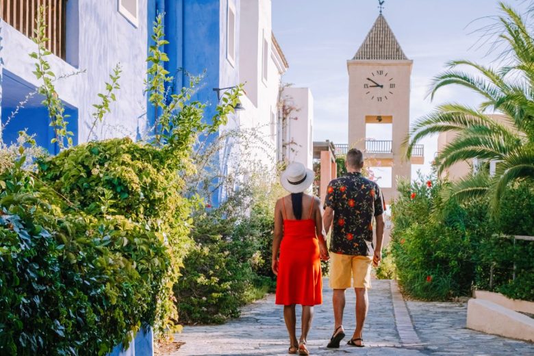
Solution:
[[[397,292],[396,283],[386,280],[372,281],[373,288],[369,291],[370,309],[364,329],[367,347],[345,345],[355,327],[355,295],[347,290],[344,317],[347,337],[338,350],[330,350],[326,345],[333,332],[332,293],[327,279],[324,282],[324,303],[315,307],[314,325],[308,335],[312,355],[534,355],[534,344],[466,329],[465,303],[408,301],[402,305],[396,297],[394,307],[392,285]],[[225,325],[184,327],[175,338],[185,344],[167,355],[288,355],[289,340],[282,309],[275,305],[271,294],[244,307],[240,318]],[[403,309],[411,318],[403,316]],[[413,335],[411,330],[415,330]]]

